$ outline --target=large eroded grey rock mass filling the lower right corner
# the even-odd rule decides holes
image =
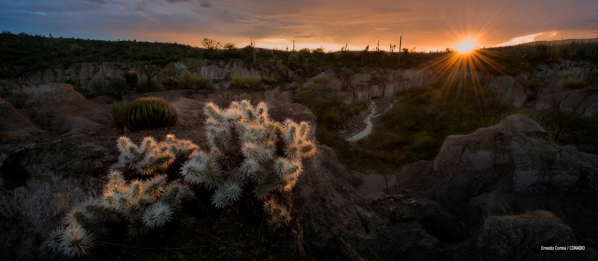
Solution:
[[[529,260],[545,257],[537,244],[588,245],[597,237],[590,224],[598,207],[598,156],[554,144],[522,114],[450,135],[434,160],[405,167],[394,189],[418,192],[422,211],[431,213],[423,227],[441,241],[451,238],[449,256],[477,247],[477,258]],[[598,256],[593,248],[578,254]]]

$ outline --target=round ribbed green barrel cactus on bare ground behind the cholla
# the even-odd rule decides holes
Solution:
[[[130,130],[157,129],[175,125],[178,114],[170,102],[143,97],[129,105],[124,119]]]

